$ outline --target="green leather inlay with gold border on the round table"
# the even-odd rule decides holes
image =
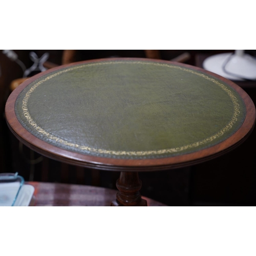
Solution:
[[[73,152],[159,158],[225,140],[245,119],[228,84],[193,69],[150,60],[106,60],[40,77],[15,103],[33,135]]]

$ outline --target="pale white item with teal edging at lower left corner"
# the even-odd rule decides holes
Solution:
[[[18,173],[0,174],[0,206],[14,206],[24,178]]]

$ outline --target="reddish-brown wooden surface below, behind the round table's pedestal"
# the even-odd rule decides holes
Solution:
[[[110,206],[117,190],[62,183],[27,182],[35,188],[32,206]],[[167,206],[142,197],[148,206]]]

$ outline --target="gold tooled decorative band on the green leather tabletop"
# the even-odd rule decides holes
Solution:
[[[101,149],[101,148],[94,148],[94,147],[85,146],[85,145],[79,145],[79,144],[76,144],[76,143],[73,143],[73,142],[69,142],[67,140],[63,140],[63,139],[61,139],[61,138],[59,138],[55,135],[52,135],[52,134],[48,133],[44,129],[42,129],[31,118],[31,116],[29,114],[29,111],[28,111],[28,107],[27,107],[28,100],[29,100],[30,95],[34,92],[34,90],[40,84],[42,84],[43,82],[45,82],[45,81],[47,81],[47,80],[49,80],[49,79],[51,79],[55,76],[58,76],[62,73],[69,72],[69,71],[72,71],[72,70],[75,70],[75,69],[81,69],[84,66],[89,67],[89,66],[122,64],[122,63],[132,63],[132,64],[136,63],[136,64],[142,64],[142,65],[155,65],[155,66],[164,66],[164,67],[168,67],[168,68],[179,69],[179,70],[183,70],[183,71],[201,76],[201,77],[203,77],[203,78],[205,78],[209,81],[214,82],[215,84],[217,84],[221,89],[223,89],[229,95],[229,97],[231,98],[231,100],[233,102],[234,112],[233,112],[233,116],[232,116],[230,122],[225,127],[223,127],[218,133],[210,136],[209,138],[206,138],[204,140],[194,142],[194,143],[191,143],[191,144],[188,144],[188,145],[180,146],[180,147],[173,147],[173,148],[167,148],[165,150],[156,150],[156,151],[155,150],[153,150],[153,151],[112,151],[112,150],[104,150],[104,149]],[[120,155],[146,156],[146,155],[160,155],[160,154],[176,153],[176,152],[184,151],[184,150],[187,150],[187,149],[197,147],[199,145],[203,145],[205,143],[211,142],[211,141],[215,140],[216,138],[222,136],[227,131],[229,131],[231,129],[231,127],[234,125],[234,123],[237,122],[237,117],[240,114],[239,109],[240,109],[240,106],[238,104],[237,98],[233,95],[233,93],[230,90],[228,90],[228,88],[226,86],[224,86],[224,84],[220,83],[216,79],[210,78],[207,75],[204,75],[204,74],[201,74],[201,73],[198,73],[198,72],[195,72],[193,70],[186,69],[186,68],[182,68],[182,67],[179,67],[179,66],[168,65],[168,64],[157,63],[157,62],[143,62],[143,61],[106,61],[106,62],[97,62],[97,63],[89,63],[89,64],[84,64],[84,65],[78,65],[78,66],[75,66],[75,67],[72,67],[72,68],[64,69],[64,70],[61,70],[61,71],[59,71],[55,74],[49,75],[45,79],[42,79],[42,80],[38,81],[37,83],[35,83],[34,86],[32,86],[30,88],[30,90],[26,93],[26,95],[25,95],[25,97],[23,98],[23,101],[22,101],[22,110],[23,110],[23,114],[24,114],[25,118],[27,119],[27,121],[30,123],[31,126],[34,127],[34,129],[38,133],[46,136],[48,139],[54,140],[54,141],[56,141],[60,144],[63,144],[63,145],[67,145],[67,146],[77,148],[78,150],[81,150],[81,151],[87,151],[87,152],[89,151],[89,152],[93,152],[93,153],[106,154],[106,155],[118,155],[118,156],[120,156]]]

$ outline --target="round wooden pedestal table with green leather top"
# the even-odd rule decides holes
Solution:
[[[145,206],[138,172],[189,166],[242,143],[255,123],[233,82],[165,60],[110,58],[39,73],[7,100],[10,130],[62,162],[120,172],[112,205]]]

